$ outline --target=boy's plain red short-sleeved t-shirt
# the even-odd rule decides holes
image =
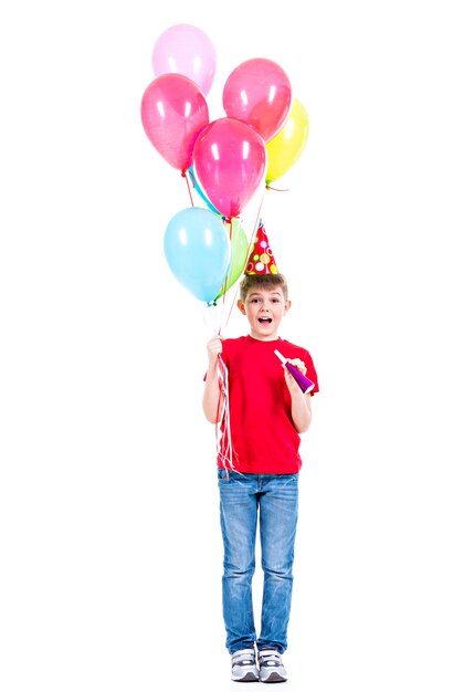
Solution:
[[[230,437],[232,464],[242,473],[297,473],[302,466],[299,434],[292,420],[292,400],[277,348],[285,358],[301,358],[306,376],[316,386],[309,353],[285,339],[265,342],[252,336],[222,342],[222,360],[229,371]],[[230,468],[222,450],[228,448],[229,427],[222,426],[218,465]]]

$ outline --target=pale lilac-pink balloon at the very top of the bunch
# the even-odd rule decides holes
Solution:
[[[215,49],[201,29],[175,24],[158,38],[151,63],[156,76],[183,74],[208,94],[215,73]]]

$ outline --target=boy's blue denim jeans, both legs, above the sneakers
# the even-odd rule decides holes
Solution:
[[[218,469],[224,547],[222,607],[229,653],[287,647],[293,559],[298,515],[298,474],[242,474]],[[263,600],[260,637],[252,605],[255,537],[260,516]]]

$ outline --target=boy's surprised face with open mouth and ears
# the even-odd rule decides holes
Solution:
[[[285,301],[282,289],[276,286],[270,290],[251,289],[244,303],[238,301],[239,310],[249,319],[251,336],[264,342],[278,337],[280,323],[291,305],[291,301]]]

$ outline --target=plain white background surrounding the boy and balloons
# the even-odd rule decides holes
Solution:
[[[262,207],[293,298],[281,335],[322,389],[287,688],[472,692],[468,4],[2,3],[4,692],[231,686],[209,315],[166,264],[189,196],[139,116],[180,22],[217,50],[211,119],[250,57],[284,67],[309,115]]]

